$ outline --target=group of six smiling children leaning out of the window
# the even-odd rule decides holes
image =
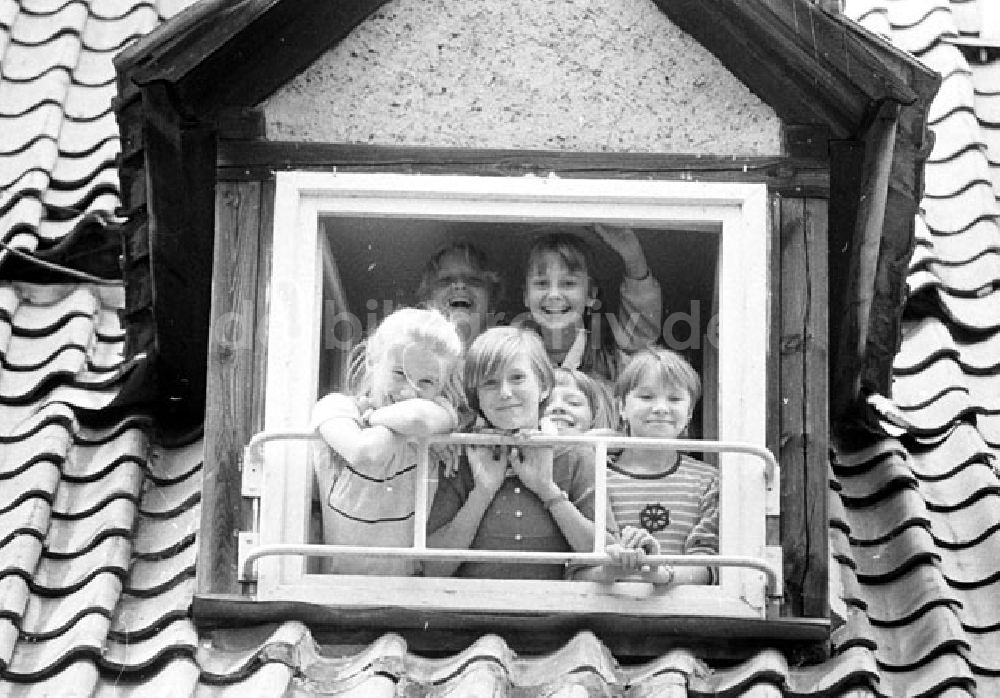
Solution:
[[[470,246],[436,255],[420,295],[426,308],[386,317],[358,347],[348,393],[322,398],[314,427],[329,445],[316,459],[324,542],[408,547],[413,542],[415,442],[453,431],[623,433],[678,438],[701,394],[697,373],[658,348],[660,290],[628,228],[595,226],[625,264],[619,331],[593,331],[597,297],[585,245],[548,234],[532,247],[524,302],[530,321],[484,329],[499,277]],[[612,388],[613,386],[613,388]],[[431,548],[587,552],[595,531],[594,449],[467,447],[432,456],[440,474],[427,520]],[[627,578],[648,554],[718,551],[718,475],[677,452],[630,448],[609,456],[607,550],[614,565],[345,558],[341,574],[481,578]],[[711,567],[647,570],[659,583],[706,584]]]

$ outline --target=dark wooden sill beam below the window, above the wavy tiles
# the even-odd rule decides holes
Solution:
[[[745,660],[765,648],[787,650],[803,661],[821,661],[829,648],[829,621],[820,618],[745,620],[677,616],[528,615],[429,613],[419,609],[357,611],[295,602],[261,602],[247,597],[194,597],[193,615],[202,630],[300,620],[324,642],[369,643],[392,631],[413,651],[457,652],[484,633],[503,636],[517,651],[550,651],[577,632],[597,634],[617,657],[660,656],[682,647],[704,659]]]

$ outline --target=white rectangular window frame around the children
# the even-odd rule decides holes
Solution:
[[[768,346],[768,207],[764,184],[282,172],[276,175],[268,299],[265,432],[301,431],[319,379],[322,219],[381,216],[465,221],[631,225],[720,236],[718,435],[763,447]],[[308,445],[271,443],[260,487],[260,545],[305,543],[313,474]],[[722,556],[773,556],[766,515],[776,482],[741,453],[720,456]],[[759,497],[747,493],[760,493]],[[766,496],[765,496],[766,492]],[[777,563],[780,570],[780,562]],[[585,581],[391,578],[306,572],[304,557],[256,560],[256,598],[359,609],[486,613],[622,613],[645,617],[766,617],[765,575],[724,567],[718,585],[653,589]],[[553,586],[555,585],[555,587]]]

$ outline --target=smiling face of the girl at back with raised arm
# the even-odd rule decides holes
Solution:
[[[529,261],[524,304],[543,328],[581,325],[589,293],[587,272],[570,271],[555,252],[542,252]]]

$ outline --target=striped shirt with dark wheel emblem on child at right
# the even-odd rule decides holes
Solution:
[[[621,527],[649,531],[664,555],[718,554],[719,473],[678,455],[659,473],[633,473],[608,459],[608,499]]]

